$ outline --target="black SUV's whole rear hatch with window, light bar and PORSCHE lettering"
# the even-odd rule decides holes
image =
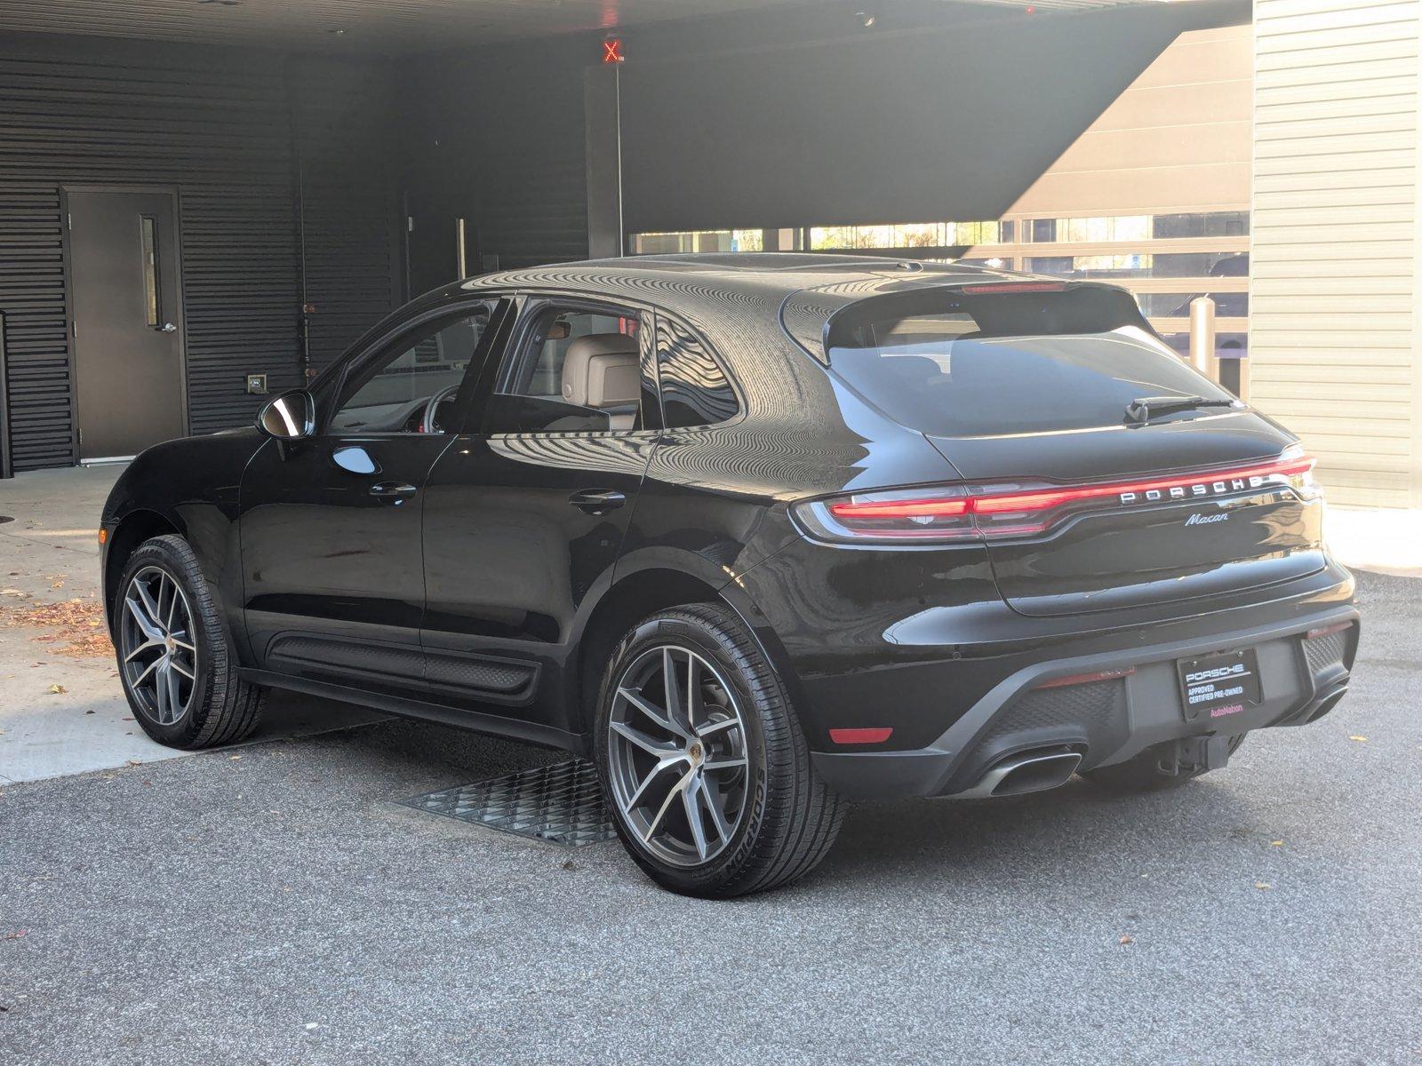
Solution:
[[[1123,290],[873,297],[835,314],[826,350],[951,463],[963,522],[1022,614],[1185,603],[1325,564],[1294,439],[1180,360]]]

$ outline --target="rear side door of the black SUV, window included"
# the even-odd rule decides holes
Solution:
[[[427,675],[435,699],[563,731],[579,604],[611,581],[656,448],[651,314],[528,297],[482,411],[425,490]]]

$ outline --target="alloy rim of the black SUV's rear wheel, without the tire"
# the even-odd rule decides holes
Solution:
[[[621,672],[607,719],[609,777],[627,827],[657,858],[697,866],[745,814],[745,723],[731,687],[691,648],[647,648]]]

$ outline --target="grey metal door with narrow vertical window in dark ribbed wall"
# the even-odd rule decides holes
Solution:
[[[171,192],[68,192],[80,459],[186,432]]]

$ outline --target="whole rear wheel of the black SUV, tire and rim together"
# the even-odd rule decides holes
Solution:
[[[704,897],[809,873],[843,816],[774,667],[725,607],[653,615],[613,652],[596,725],[607,806],[658,884]]]

